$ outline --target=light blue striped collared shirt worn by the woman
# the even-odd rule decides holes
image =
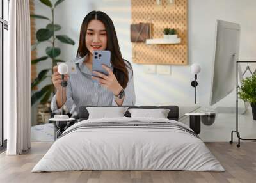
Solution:
[[[92,72],[83,63],[86,56],[83,58],[75,58],[72,60],[76,63],[76,74],[70,74],[67,81],[66,96],[67,100],[64,104],[65,109],[69,113],[78,113],[80,106],[118,106],[115,102],[113,93],[104,88],[97,82],[93,82],[91,76]],[[112,67],[112,66],[111,66]],[[135,92],[134,83],[131,70],[129,71],[129,81],[127,83],[125,91],[125,97],[123,101],[124,106],[134,106],[135,104]],[[60,113],[61,109],[58,109],[56,103],[56,94],[52,97],[51,109],[54,113]]]

